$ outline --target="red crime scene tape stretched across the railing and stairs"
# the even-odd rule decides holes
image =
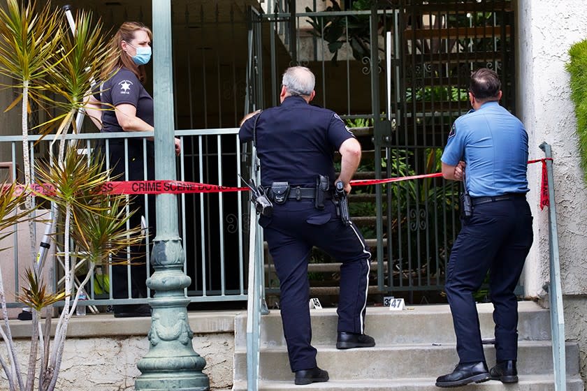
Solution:
[[[542,183],[540,186],[540,209],[550,205],[549,184],[546,171],[546,161],[552,158],[541,158],[528,161],[528,164],[542,162]],[[386,184],[413,179],[442,177],[442,172],[433,174],[410,175],[407,177],[393,177],[383,179],[358,179],[351,181],[352,186],[368,186],[372,184]],[[15,187],[15,195],[24,192],[24,185]],[[215,184],[201,184],[197,182],[155,180],[155,181],[127,181],[106,182],[102,185],[103,193],[109,194],[189,194],[189,193],[226,193],[231,191],[248,191],[248,187],[231,187]],[[31,191],[36,195],[55,195],[55,186],[52,184],[31,184]]]

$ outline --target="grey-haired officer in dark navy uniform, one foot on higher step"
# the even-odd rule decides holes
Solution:
[[[284,336],[296,384],[328,381],[328,372],[317,367],[317,351],[311,344],[307,265],[312,246],[342,262],[336,347],[375,346],[375,340],[363,333],[371,254],[356,226],[342,223],[332,191],[339,181],[347,193],[351,190],[361,145],[338,115],[308,104],[314,94],[312,71],[288,68],[282,79],[282,104],[248,115],[239,132],[241,142],[256,134],[261,184],[273,200],[273,215],[261,216],[259,224],[280,279]],[[342,155],[338,177],[335,151]]]

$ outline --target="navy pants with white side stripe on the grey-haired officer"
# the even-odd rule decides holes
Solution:
[[[272,217],[259,220],[280,279],[280,308],[291,371],[317,365],[307,277],[312,246],[342,262],[338,332],[362,333],[365,326],[371,253],[358,229],[343,226],[333,202],[325,203],[325,209],[318,210],[314,200],[288,200],[274,205]]]

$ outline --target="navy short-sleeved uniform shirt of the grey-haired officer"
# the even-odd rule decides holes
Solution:
[[[255,116],[238,133],[241,142],[253,139]],[[261,184],[287,181],[292,186],[314,186],[317,175],[334,182],[334,152],[354,135],[331,110],[306,103],[300,96],[261,112],[256,123],[256,149],[261,159]]]

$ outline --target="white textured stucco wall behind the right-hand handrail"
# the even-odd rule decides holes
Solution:
[[[518,0],[516,40],[519,116],[530,136],[530,158],[542,158],[538,145],[552,146],[560,269],[565,295],[587,293],[587,189],[579,167],[574,106],[569,74],[565,71],[569,47],[587,38],[585,0]],[[548,281],[548,211],[537,207],[539,164],[530,166],[528,180],[533,207],[535,244],[528,257],[526,294],[543,295]]]

